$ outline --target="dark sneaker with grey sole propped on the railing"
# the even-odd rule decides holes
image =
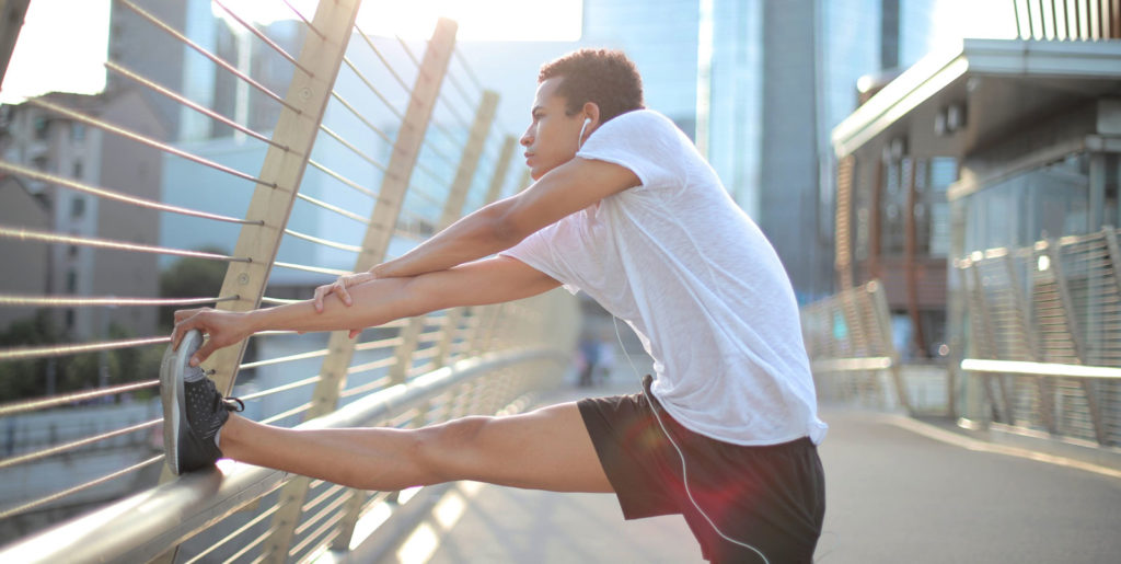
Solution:
[[[159,368],[164,450],[167,466],[176,475],[213,465],[221,459],[215,436],[230,418],[230,412],[245,408],[238,398],[223,398],[201,367],[188,364],[202,343],[202,333],[188,332],[177,351],[168,345]]]

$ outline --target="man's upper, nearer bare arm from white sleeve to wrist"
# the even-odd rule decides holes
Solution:
[[[638,176],[620,165],[574,158],[526,191],[463,218],[411,251],[370,271],[379,278],[416,276],[488,257],[571,213],[639,184]]]

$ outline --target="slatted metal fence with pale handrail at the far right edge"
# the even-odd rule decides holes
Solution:
[[[1121,255],[1113,228],[974,252],[965,295],[966,373],[993,422],[1121,444]]]

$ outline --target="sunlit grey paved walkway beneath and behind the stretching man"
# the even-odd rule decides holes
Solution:
[[[828,509],[816,562],[1121,562],[1117,477],[937,441],[898,416],[824,409],[823,418]],[[628,523],[612,496],[476,483],[458,484],[398,554],[395,562],[701,562],[679,516]]]

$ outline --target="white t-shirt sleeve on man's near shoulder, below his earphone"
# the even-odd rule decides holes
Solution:
[[[643,187],[660,188],[680,184],[682,150],[692,146],[669,118],[636,110],[596,129],[576,156],[626,167]]]

